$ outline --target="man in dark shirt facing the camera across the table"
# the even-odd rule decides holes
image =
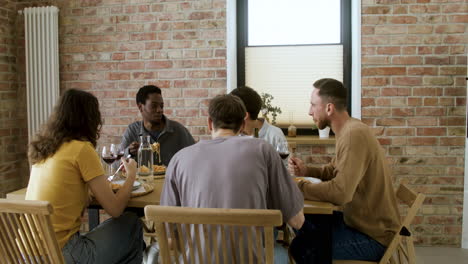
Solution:
[[[160,143],[161,161],[167,166],[177,151],[195,143],[187,128],[164,116],[164,100],[157,86],[141,87],[136,103],[143,120],[130,124],[123,135],[121,146],[126,155],[137,158],[140,136],[149,135],[151,143]],[[157,164],[156,160],[154,162]]]

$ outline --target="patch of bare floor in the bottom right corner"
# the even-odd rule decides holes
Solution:
[[[416,247],[417,264],[468,264],[468,249]]]

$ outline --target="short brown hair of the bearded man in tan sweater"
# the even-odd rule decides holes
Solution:
[[[319,89],[318,95],[325,101],[335,105],[339,111],[346,110],[348,106],[348,91],[343,83],[331,78],[324,78],[314,82]]]

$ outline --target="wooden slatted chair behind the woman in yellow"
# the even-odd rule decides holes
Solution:
[[[45,201],[0,199],[0,263],[65,263]]]

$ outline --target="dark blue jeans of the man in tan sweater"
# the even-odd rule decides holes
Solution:
[[[291,243],[290,253],[297,264],[319,263],[323,245],[322,223],[314,221],[313,215],[307,215],[302,228]],[[379,261],[386,247],[344,223],[343,213],[333,212],[332,222],[332,258],[348,260]]]

